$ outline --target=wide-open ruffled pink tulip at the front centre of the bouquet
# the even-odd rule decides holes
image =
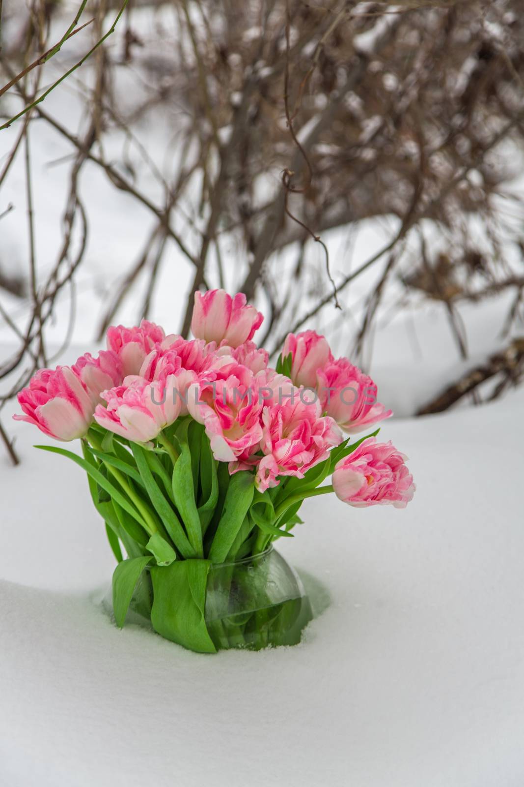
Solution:
[[[189,386],[190,415],[206,427],[213,456],[231,462],[258,445],[262,437],[255,377],[244,366],[236,366],[225,379]]]

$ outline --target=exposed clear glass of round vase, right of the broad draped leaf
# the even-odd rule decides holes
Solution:
[[[217,650],[297,645],[313,619],[302,582],[273,547],[212,565],[204,612]]]

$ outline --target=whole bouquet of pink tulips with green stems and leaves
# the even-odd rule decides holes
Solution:
[[[81,441],[82,456],[37,447],[87,473],[118,561],[119,626],[147,575],[142,601],[154,629],[214,652],[205,615],[211,567],[291,537],[307,497],[334,492],[353,506],[398,508],[412,497],[405,456],[391,443],[376,442],[376,432],[344,438],[391,415],[372,379],[335,360],[314,331],[288,334],[270,368],[252,341],[262,319],[243,294],[197,292],[195,338],[146,320],[110,327],[108,349],[38,371],[18,394],[16,419]]]

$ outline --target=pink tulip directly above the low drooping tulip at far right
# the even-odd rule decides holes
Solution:
[[[371,377],[346,358],[317,371],[317,391],[323,412],[332,416],[347,434],[361,432],[393,415],[376,401],[377,388]]]

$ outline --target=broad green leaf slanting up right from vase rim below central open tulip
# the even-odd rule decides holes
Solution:
[[[228,556],[229,549],[249,511],[254,493],[255,476],[251,472],[244,470],[233,475],[209,552],[212,563],[223,563]]]

